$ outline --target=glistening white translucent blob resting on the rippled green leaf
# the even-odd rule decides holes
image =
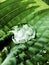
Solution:
[[[14,34],[12,37],[12,40],[14,43],[25,43],[33,38],[35,38],[35,30],[32,26],[30,25],[23,25],[21,27],[14,26],[14,30],[11,30]]]

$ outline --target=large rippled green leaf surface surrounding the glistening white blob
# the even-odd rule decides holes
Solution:
[[[15,45],[8,31],[25,23],[34,27],[36,38]],[[49,65],[49,6],[42,0],[0,3],[0,50],[1,65]]]

